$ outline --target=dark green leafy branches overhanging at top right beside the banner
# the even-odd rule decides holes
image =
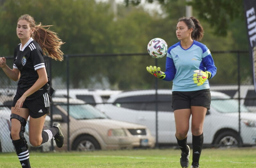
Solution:
[[[148,3],[152,3],[154,0],[146,0]],[[170,6],[177,3],[177,0],[155,0],[163,5],[166,9],[170,9]],[[128,6],[140,4],[140,0],[124,0]],[[191,0],[180,1],[179,3],[191,5],[193,10],[198,12],[198,17],[208,22],[214,27],[217,35],[227,35],[229,23],[237,18],[244,20],[244,8],[243,0]],[[185,9],[185,5],[179,6],[179,8]],[[173,9],[173,8],[172,8]],[[182,10],[179,10],[182,11]],[[167,13],[172,16],[173,10],[166,10]],[[178,12],[178,11],[176,11]]]

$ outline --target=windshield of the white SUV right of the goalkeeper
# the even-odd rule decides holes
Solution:
[[[234,113],[238,112],[238,100],[214,100],[211,101],[211,107],[221,113]],[[242,104],[240,104],[241,112],[249,112],[249,110]]]

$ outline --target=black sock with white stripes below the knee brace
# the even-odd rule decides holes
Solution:
[[[24,144],[23,140],[21,139],[12,140],[12,143],[15,147],[16,154],[20,160],[20,164],[22,168],[31,168],[30,162],[29,162],[29,153],[28,153],[27,144]],[[23,150],[23,152],[20,152],[21,150]]]

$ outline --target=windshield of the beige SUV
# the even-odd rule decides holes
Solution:
[[[67,105],[60,105],[60,106],[64,108],[66,111],[68,110]],[[97,108],[94,108],[89,104],[69,105],[69,115],[77,120],[108,118],[105,114],[100,112]]]

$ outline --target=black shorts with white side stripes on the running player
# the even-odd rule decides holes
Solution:
[[[13,98],[12,107],[15,107],[15,104],[19,99],[20,96],[16,94]],[[44,93],[42,96],[36,99],[25,100],[21,108],[28,108],[29,116],[32,118],[39,118],[49,113],[51,102],[51,96]]]

